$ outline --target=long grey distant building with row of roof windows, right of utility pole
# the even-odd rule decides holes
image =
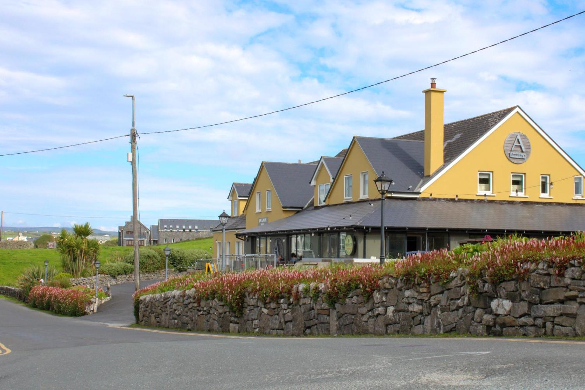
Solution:
[[[211,228],[217,224],[217,220],[159,219],[157,243],[170,244],[171,242],[211,237]]]

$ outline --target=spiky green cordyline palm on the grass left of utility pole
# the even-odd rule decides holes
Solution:
[[[61,254],[63,269],[70,272],[75,278],[84,273],[88,266],[91,266],[99,254],[99,242],[88,240],[94,230],[89,223],[83,225],[75,224],[73,234],[65,229],[57,236],[57,251]]]

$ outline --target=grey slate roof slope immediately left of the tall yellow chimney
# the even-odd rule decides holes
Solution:
[[[376,171],[394,180],[390,191],[412,192],[424,177],[425,143],[408,139],[355,137]],[[374,180],[376,177],[370,177]]]

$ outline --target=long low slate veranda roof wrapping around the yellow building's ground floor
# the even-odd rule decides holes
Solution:
[[[371,206],[370,206],[371,205]],[[387,228],[569,232],[585,230],[580,204],[524,201],[386,199]],[[380,227],[380,200],[309,207],[239,234],[270,234],[325,228]]]

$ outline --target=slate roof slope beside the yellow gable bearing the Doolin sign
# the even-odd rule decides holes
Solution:
[[[264,162],[274,191],[283,207],[302,208],[314,194],[311,177],[315,164]]]

